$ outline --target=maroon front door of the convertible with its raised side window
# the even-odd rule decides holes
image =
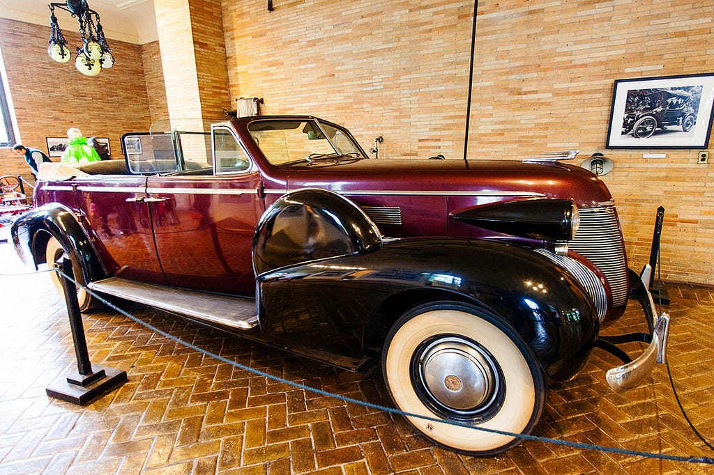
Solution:
[[[166,281],[253,295],[253,231],[265,210],[261,175],[227,127],[212,131],[213,169],[150,176],[147,198]]]

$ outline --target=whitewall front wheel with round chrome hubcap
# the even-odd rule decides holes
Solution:
[[[514,436],[461,427],[529,433],[540,419],[545,382],[531,349],[505,322],[478,307],[433,302],[403,315],[383,348],[389,394],[424,436],[464,454],[490,456]]]

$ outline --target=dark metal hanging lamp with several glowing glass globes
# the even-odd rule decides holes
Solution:
[[[106,43],[104,30],[101,28],[99,14],[90,9],[86,0],[66,0],[64,4],[49,4],[50,36],[49,57],[58,63],[66,63],[71,58],[67,41],[64,39],[62,30],[59,29],[57,17],[54,16],[54,9],[58,8],[69,11],[73,18],[79,22],[79,35],[82,46],[76,48],[76,58],[74,66],[80,73],[86,76],[96,76],[101,68],[111,68],[114,66],[114,56],[111,56],[111,48]]]

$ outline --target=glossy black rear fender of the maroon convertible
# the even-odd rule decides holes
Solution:
[[[15,250],[26,265],[45,262],[45,247],[56,237],[74,262],[79,263],[86,282],[106,277],[91,240],[79,218],[66,206],[49,203],[21,215],[10,228]]]

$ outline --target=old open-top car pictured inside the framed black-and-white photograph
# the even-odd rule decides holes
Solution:
[[[697,122],[701,86],[628,91],[622,135],[651,137],[669,126],[690,131]]]

